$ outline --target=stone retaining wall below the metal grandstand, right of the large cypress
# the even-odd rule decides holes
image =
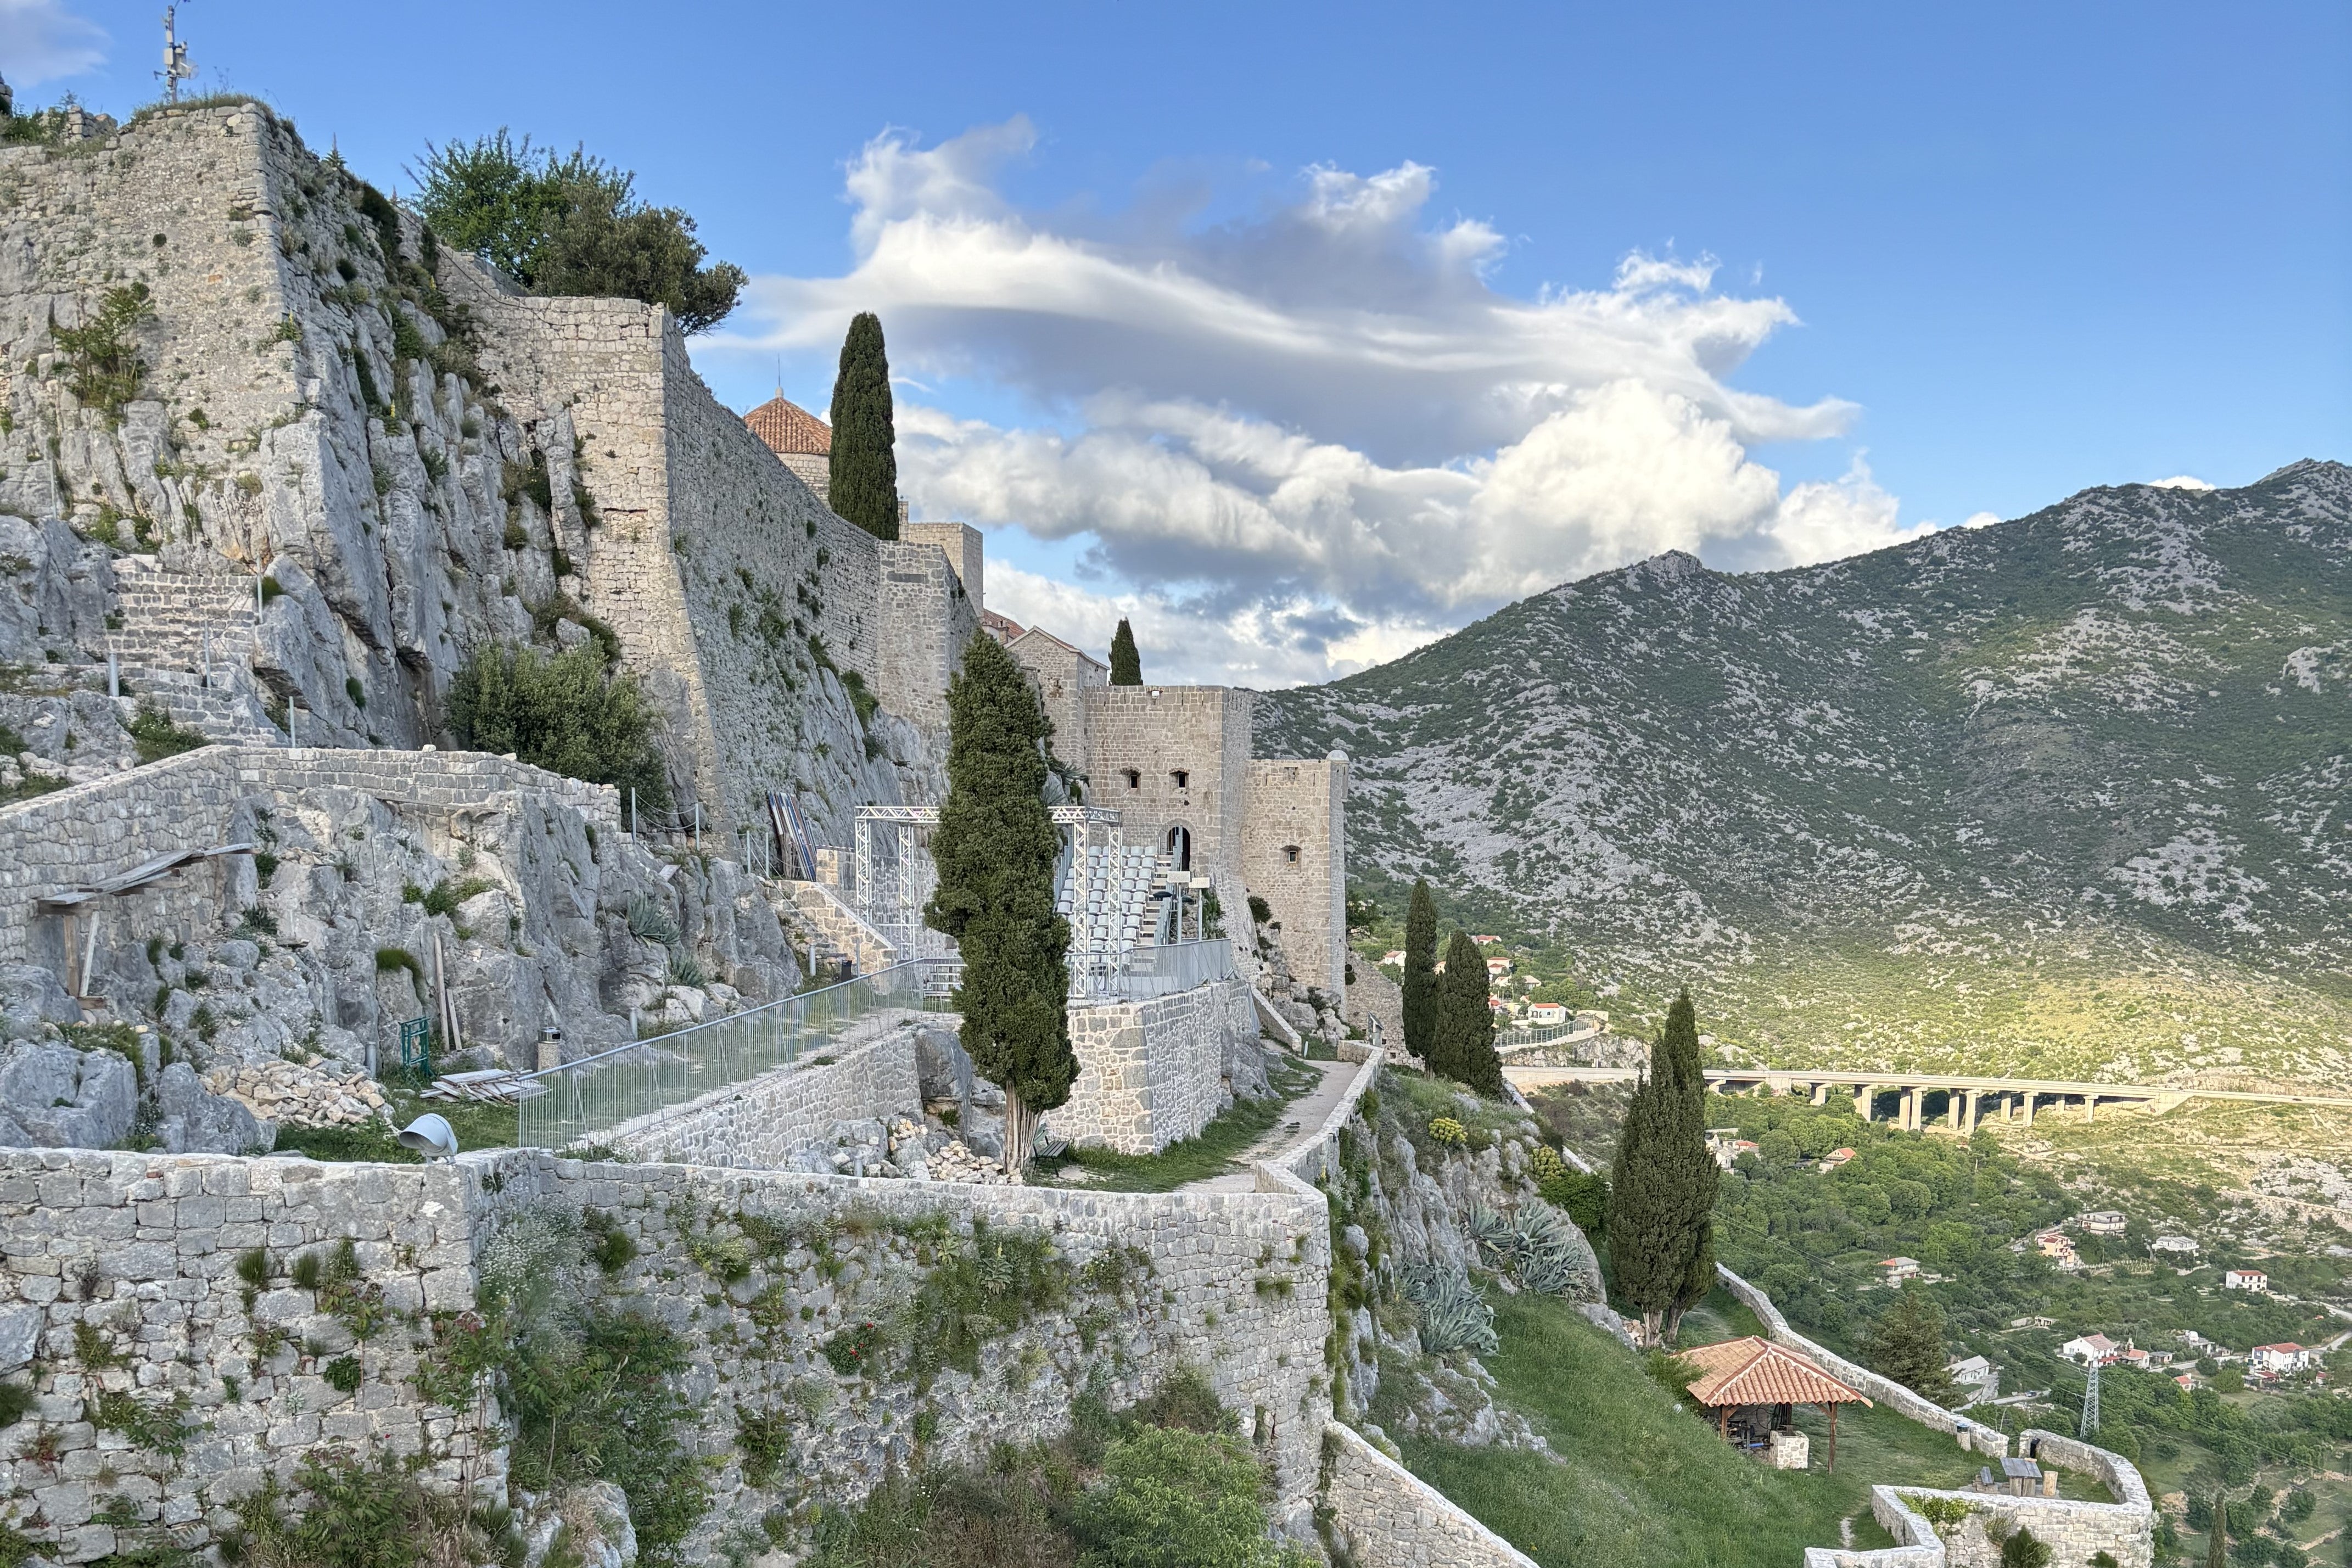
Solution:
[[[1077,1084],[1044,1124],[1075,1145],[1157,1154],[1232,1103],[1225,1046],[1256,1037],[1249,987],[1240,978],[1150,1001],[1073,1006]]]

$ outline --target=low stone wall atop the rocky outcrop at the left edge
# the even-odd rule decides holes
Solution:
[[[247,795],[343,785],[376,799],[456,811],[494,795],[534,790],[597,823],[619,825],[609,785],[586,785],[527,762],[487,752],[355,752],[207,745],[113,778],[0,806],[0,961],[59,961],[35,954],[56,933],[35,922],[40,896],[101,882],[181,849],[226,842]]]

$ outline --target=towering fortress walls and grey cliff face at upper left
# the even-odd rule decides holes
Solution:
[[[73,339],[111,299],[113,357]],[[209,632],[280,733],[414,748],[475,649],[612,637],[682,813],[790,788],[844,835],[941,783],[861,715],[875,562],[668,313],[513,299],[259,106],[0,150],[0,661],[186,670]]]

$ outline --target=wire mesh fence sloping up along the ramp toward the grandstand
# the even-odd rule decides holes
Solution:
[[[539,1093],[520,1103],[515,1143],[572,1150],[656,1112],[741,1084],[802,1056],[823,1053],[856,1020],[889,1009],[938,1009],[931,961],[891,964],[710,1023],[656,1034],[597,1056],[524,1074]]]

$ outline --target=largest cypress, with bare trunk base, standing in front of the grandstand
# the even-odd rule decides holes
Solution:
[[[948,682],[948,802],[931,835],[938,891],[922,919],[962,950],[955,1006],[974,1070],[1004,1091],[1007,1173],[1028,1164],[1037,1114],[1077,1081],[1070,922],[1054,912],[1061,839],[1044,804],[1051,733],[1014,656],[974,637]]]

